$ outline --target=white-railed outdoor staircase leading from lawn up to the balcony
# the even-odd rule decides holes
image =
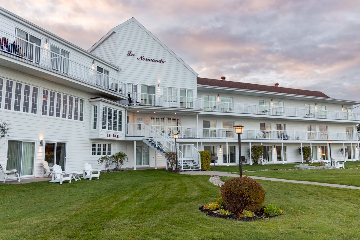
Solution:
[[[163,157],[168,151],[174,151],[177,148],[177,164],[180,166],[181,171],[201,171],[200,153],[195,148],[194,144],[190,145],[177,145],[175,146],[174,139],[168,137],[163,132],[159,131],[156,127],[151,125],[142,124],[144,131],[143,142],[150,148],[160,153]]]

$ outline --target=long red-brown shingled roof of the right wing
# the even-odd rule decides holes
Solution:
[[[198,83],[198,85],[206,85],[206,86],[213,86],[213,87],[228,87],[228,88],[233,88],[233,89],[255,90],[255,91],[312,96],[312,97],[319,97],[319,98],[330,98],[329,96],[325,95],[323,92],[319,92],[319,91],[293,89],[293,88],[288,88],[288,87],[275,87],[275,86],[267,86],[267,85],[245,83],[245,82],[222,81],[222,80],[211,79],[211,78],[198,77],[197,83]]]

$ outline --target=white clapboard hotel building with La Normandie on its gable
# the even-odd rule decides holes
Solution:
[[[197,166],[200,150],[216,164],[239,164],[234,125],[245,126],[242,155],[263,145],[267,163],[359,159],[358,101],[322,92],[200,78],[136,19],[113,28],[88,51],[0,8],[0,164],[40,177],[41,162],[74,171],[123,151],[127,169],[165,167],[164,152]],[[13,53],[15,40],[22,51]],[[8,48],[6,49],[6,43]],[[226,73],[224,73],[226,74]],[[341,154],[340,148],[348,149]],[[250,161],[249,161],[250,162]],[[0,180],[1,180],[0,173]]]

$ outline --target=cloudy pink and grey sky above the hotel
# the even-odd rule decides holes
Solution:
[[[360,101],[359,0],[0,0],[89,49],[135,17],[199,77]],[[359,108],[360,109],[360,108]]]

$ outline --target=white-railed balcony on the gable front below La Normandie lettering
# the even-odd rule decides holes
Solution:
[[[128,100],[122,100],[120,103],[126,105],[142,105],[152,107],[172,107],[201,109],[200,98],[189,98],[170,95],[157,95],[146,93],[127,93]]]

